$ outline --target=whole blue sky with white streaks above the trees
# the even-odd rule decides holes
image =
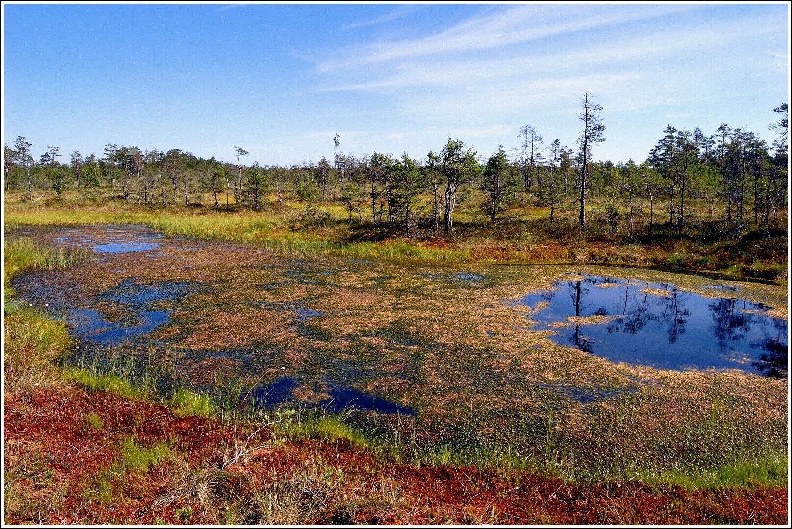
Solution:
[[[479,154],[531,124],[595,158],[643,159],[663,127],[771,139],[788,101],[785,5],[4,6],[6,139],[291,164],[341,150]]]

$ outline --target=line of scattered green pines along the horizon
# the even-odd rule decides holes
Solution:
[[[582,227],[593,196],[606,229],[615,232],[622,223],[630,238],[637,229],[639,201],[649,209],[649,222],[642,223],[649,237],[659,224],[672,226],[681,237],[691,220],[686,209],[691,199],[722,206],[719,220],[727,238],[738,237],[749,223],[771,223],[786,207],[786,103],[774,109],[779,117],[769,125],[776,135],[769,145],[756,133],[727,124],[710,135],[698,127],[686,131],[668,125],[644,161],[616,164],[592,158],[605,140],[601,112],[592,94],[584,93],[573,147],[560,139],[545,144],[535,127],[525,125],[520,147],[507,153],[501,146],[485,158],[451,138],[424,160],[381,153],[358,158],[342,152],[335,135],[332,161],[322,157],[285,167],[246,165],[249,152],[242,147],[235,147],[233,161],[223,162],[177,149],[143,152],[113,143],[101,158],[78,150],[65,158],[58,147],[47,147],[36,161],[31,143],[20,136],[4,149],[5,186],[25,191],[27,200],[34,200],[34,188],[51,188],[60,196],[67,188],[89,193],[101,186],[116,188],[119,200],[143,206],[197,205],[211,195],[215,209],[254,211],[268,207],[266,197],[274,193],[278,202],[291,196],[309,204],[341,203],[350,223],[402,226],[407,235],[417,226],[453,232],[460,200],[479,200],[478,210],[493,224],[508,219],[515,204],[528,204],[546,207],[550,223],[561,208],[575,209]],[[668,205],[667,223],[656,219],[661,201]]]

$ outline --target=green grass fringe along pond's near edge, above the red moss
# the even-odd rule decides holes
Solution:
[[[114,221],[116,219],[113,219]],[[182,222],[184,221],[184,222]],[[250,220],[248,224],[229,221],[230,226],[242,226],[242,233],[265,230],[265,221]],[[261,224],[257,224],[261,223]],[[175,227],[173,227],[175,226]],[[179,220],[171,228],[158,226],[169,233],[205,234],[206,226],[215,226],[215,220]],[[229,230],[231,229],[229,226]],[[245,231],[249,230],[249,231]],[[173,233],[173,232],[170,232]],[[215,234],[215,232],[211,232]],[[215,234],[220,237],[220,234]],[[212,235],[212,236],[215,236]],[[226,237],[227,235],[222,235]],[[252,236],[252,235],[251,235]],[[364,249],[360,243],[356,248]],[[89,258],[89,253],[49,249],[36,242],[17,239],[6,242],[6,283],[9,278],[26,268],[60,268],[78,265]],[[400,250],[401,252],[401,250]],[[365,254],[364,254],[365,255]],[[367,257],[367,256],[366,256]],[[25,325],[27,324],[27,325]],[[255,403],[243,398],[238,382],[217,382],[212,388],[200,390],[187,381],[173,376],[173,366],[154,359],[153,355],[135,359],[134,356],[93,356],[90,360],[63,363],[55,368],[54,360],[69,350],[71,339],[66,325],[30,307],[12,301],[6,303],[6,377],[5,390],[32,390],[46,384],[60,383],[64,379],[77,382],[90,390],[110,391],[124,398],[151,398],[157,394],[171,406],[177,416],[212,417],[223,421],[248,421],[253,424],[267,421],[272,411],[257,409]],[[360,449],[369,450],[388,461],[416,465],[479,466],[504,471],[525,470],[549,474],[568,481],[614,481],[640,479],[654,484],[673,484],[684,488],[711,489],[720,486],[778,485],[788,481],[786,456],[746,456],[742,461],[728,462],[715,468],[640,468],[628,457],[610,466],[596,466],[584,470],[583,466],[559,459],[554,449],[551,419],[543,451],[520,451],[512,446],[493,446],[482,440],[466,447],[444,443],[418,442],[412,437],[394,432],[369,432],[352,425],[351,412],[327,413],[310,406],[284,408],[272,421],[276,439],[295,440],[311,438],[328,443],[340,440]],[[131,445],[130,445],[131,446]],[[132,450],[130,448],[130,453]],[[133,458],[134,459],[134,458]],[[105,489],[105,492],[107,490]],[[102,494],[100,494],[101,496]]]

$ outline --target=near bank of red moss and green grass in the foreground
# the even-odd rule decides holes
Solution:
[[[767,500],[764,487],[786,486],[782,456],[698,473],[623,461],[581,475],[555,455],[551,428],[543,451],[530,456],[485,440],[460,449],[373,435],[353,427],[348,413],[257,409],[233,381],[198,390],[153,355],[64,362],[74,345],[67,326],[13,299],[10,278],[80,265],[89,253],[22,239],[6,242],[5,257],[6,521],[123,523],[139,520],[142,504],[149,523],[491,523],[508,521],[505,512],[523,512],[524,523],[587,519],[570,518],[565,500],[546,498],[537,507],[517,494],[504,503],[501,491],[531,486],[548,498],[572,490],[569,501],[605,490],[610,507],[586,515],[604,523],[742,521],[734,512],[710,512],[726,508],[708,491],[726,488],[725,498],[752,504]],[[601,489],[599,481],[618,486]],[[455,489],[459,483],[464,492]],[[306,489],[315,495],[306,497]],[[68,517],[78,516],[74,497],[82,498],[82,519]]]

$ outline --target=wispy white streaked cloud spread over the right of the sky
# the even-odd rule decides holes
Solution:
[[[786,21],[770,13],[690,5],[490,6],[428,36],[330,49],[313,59],[318,86],[307,91],[381,112],[376,120],[348,122],[360,129],[345,149],[379,142],[399,151],[451,135],[481,152],[509,147],[526,122],[573,142],[578,100],[592,91],[605,107],[607,149],[615,153],[608,156],[626,159],[635,154],[625,146],[650,147],[669,121],[706,127],[713,112],[728,120],[733,109],[724,97],[754,101],[753,74],[786,72]],[[324,144],[333,134],[313,137]]]

